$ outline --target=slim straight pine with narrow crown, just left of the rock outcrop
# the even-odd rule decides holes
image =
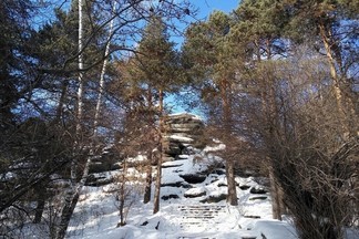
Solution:
[[[164,118],[166,117],[164,97],[168,92],[174,92],[181,85],[181,73],[178,54],[174,50],[174,43],[170,41],[170,35],[165,22],[160,17],[153,17],[144,29],[142,40],[139,45],[137,61],[140,62],[143,79],[152,85],[158,96],[158,150],[156,188],[154,195],[154,210],[160,210],[160,193],[163,163],[163,135],[165,133]]]

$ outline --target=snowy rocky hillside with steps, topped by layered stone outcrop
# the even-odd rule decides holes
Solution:
[[[142,202],[145,175],[139,165],[144,157],[139,155],[127,159],[130,167],[125,172],[126,225],[117,227],[117,193],[123,169],[98,173],[93,176],[100,181],[112,183],[85,188],[68,229],[69,238],[298,238],[289,216],[284,216],[284,221],[271,219],[267,178],[250,172],[237,175],[238,207],[226,204],[225,162],[218,156],[226,146],[215,139],[202,149],[193,146],[203,126],[197,116],[173,115],[167,124],[160,212],[152,214],[153,198],[150,204]],[[357,236],[348,230],[346,238]]]

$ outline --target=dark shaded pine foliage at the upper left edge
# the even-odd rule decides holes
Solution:
[[[33,66],[27,51],[31,27],[25,22],[33,13],[31,1],[4,0],[0,3],[0,129],[6,133],[16,124],[13,108],[32,91],[37,79],[28,75]],[[3,144],[0,138],[0,144]]]

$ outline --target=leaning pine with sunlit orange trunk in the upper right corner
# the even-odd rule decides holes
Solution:
[[[358,33],[359,4],[350,0],[318,0],[293,2],[283,1],[289,11],[288,35],[291,40],[310,41],[319,52],[325,52],[332,80],[332,92],[340,114],[342,139],[357,136],[358,125],[352,121],[358,116],[353,85],[348,81],[348,65],[357,54],[355,40]],[[321,42],[318,44],[318,42]],[[351,49],[346,51],[345,49]],[[346,55],[348,54],[349,55]],[[356,60],[353,60],[356,61]]]

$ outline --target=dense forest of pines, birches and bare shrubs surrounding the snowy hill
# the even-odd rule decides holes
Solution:
[[[119,160],[156,148],[161,173],[168,96],[227,146],[229,205],[235,169],[250,168],[270,178],[274,218],[290,212],[300,238],[358,227],[359,2],[243,0],[205,20],[197,10],[187,0],[0,1],[0,237],[51,217],[49,237],[64,238],[109,147]],[[155,186],[154,214],[161,174]]]

